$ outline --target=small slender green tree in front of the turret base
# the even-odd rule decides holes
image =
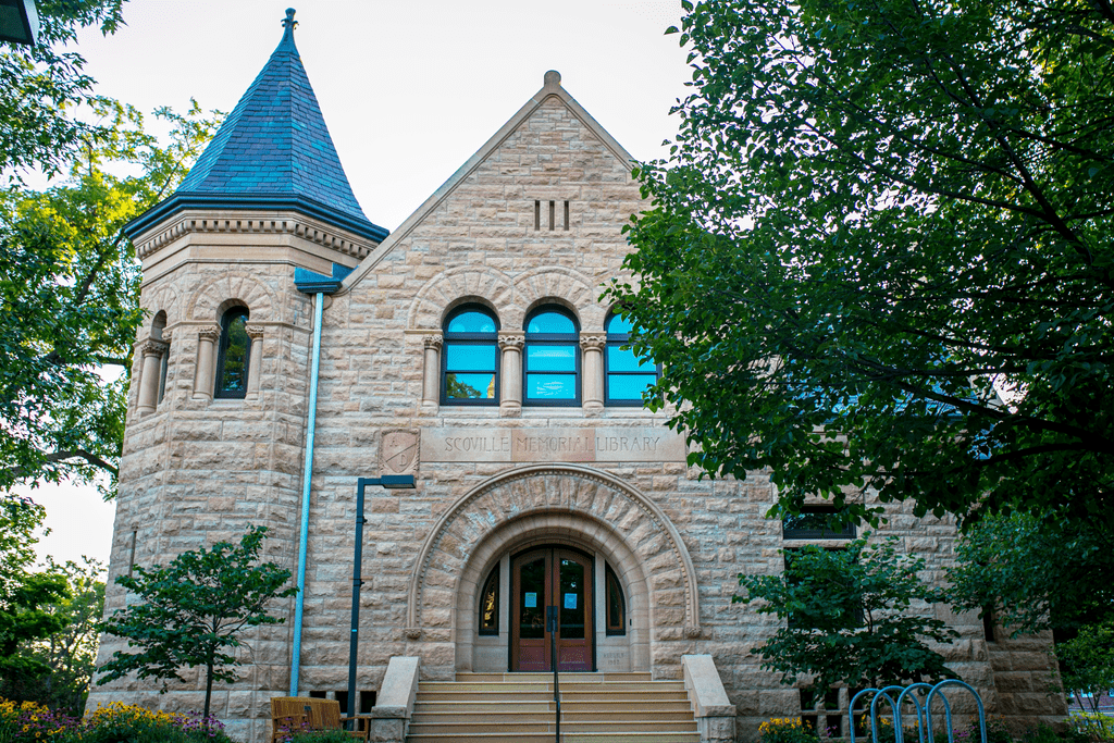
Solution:
[[[136,566],[134,576],[116,583],[134,592],[139,603],[113,613],[104,632],[128,641],[138,653],[116,651],[100,667],[105,684],[136,673],[139,678],[185,681],[182,667],[205,667],[205,710],[209,714],[213,682],[233,682],[242,661],[234,654],[244,627],[282,624],[267,614],[275,598],[286,598],[297,588],[283,588],[290,570],[272,563],[257,563],[265,527],[250,527],[240,545],[222,541],[213,547],[183,553],[166,567]],[[232,651],[232,652],[229,652]]]

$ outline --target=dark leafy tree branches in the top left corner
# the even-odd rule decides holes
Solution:
[[[67,45],[81,27],[114,33],[124,23],[125,0],[37,0],[39,41],[0,43],[0,174],[41,168],[65,170],[69,156],[96,136],[97,126],[74,116],[94,98],[85,58]]]

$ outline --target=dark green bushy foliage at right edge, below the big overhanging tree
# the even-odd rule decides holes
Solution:
[[[1052,629],[1058,642],[1114,619],[1112,571],[1104,526],[1012,514],[968,528],[948,579],[957,609],[990,609],[1014,634]]]

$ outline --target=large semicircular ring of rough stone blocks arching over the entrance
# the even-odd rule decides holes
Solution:
[[[548,525],[551,540],[570,537],[614,555],[632,555],[655,607],[654,629],[700,635],[696,571],[662,509],[606,472],[579,465],[530,465],[473,488],[433,525],[410,581],[407,636],[451,634],[462,578],[475,580],[472,574],[483,563],[479,557],[504,544],[490,536],[504,531],[509,539],[516,521],[535,517]]]

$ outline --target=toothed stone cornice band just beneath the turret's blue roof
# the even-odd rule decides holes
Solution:
[[[190,234],[290,235],[363,260],[375,243],[296,213],[184,212],[145,232],[135,241],[136,255],[146,260]]]

